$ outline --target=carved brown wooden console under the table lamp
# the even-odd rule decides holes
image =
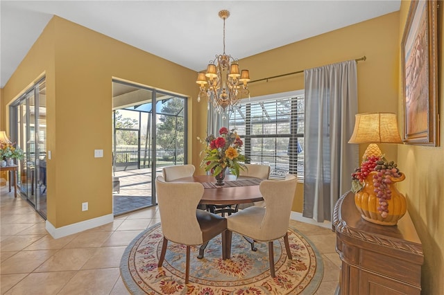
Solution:
[[[424,255],[408,212],[395,226],[373,224],[348,192],[334,206],[332,227],[342,260],[336,294],[420,295]]]

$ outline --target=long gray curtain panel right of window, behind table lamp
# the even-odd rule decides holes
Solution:
[[[332,220],[336,201],[351,188],[359,146],[348,140],[357,114],[356,61],[307,69],[302,216]]]

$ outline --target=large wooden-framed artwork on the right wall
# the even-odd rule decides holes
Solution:
[[[401,42],[404,143],[439,144],[437,1],[411,1]]]

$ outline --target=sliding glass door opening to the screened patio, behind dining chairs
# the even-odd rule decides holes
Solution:
[[[155,177],[164,166],[187,163],[187,100],[117,80],[112,92],[114,215],[120,215],[157,204]]]

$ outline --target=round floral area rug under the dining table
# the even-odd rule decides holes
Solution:
[[[123,253],[121,277],[132,294],[314,294],[323,276],[323,261],[314,245],[289,227],[292,260],[284,240],[274,242],[275,278],[270,276],[267,243],[256,242],[257,251],[233,233],[229,260],[222,260],[221,238],[214,238],[198,259],[191,247],[189,283],[185,285],[185,246],[168,243],[162,267],[161,224],[140,233]]]

